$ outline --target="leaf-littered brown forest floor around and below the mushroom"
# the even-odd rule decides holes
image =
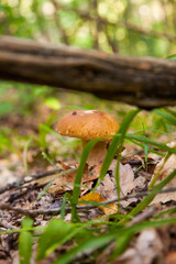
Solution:
[[[37,110],[35,109],[35,113],[29,117],[14,113],[0,118],[0,127],[14,132],[10,134],[11,141],[7,141],[9,150],[4,147],[0,154],[0,231],[20,229],[21,221],[26,216],[34,220],[34,227],[46,227],[51,219],[61,217],[64,195],[73,193],[78,168],[76,157],[80,156],[81,153],[80,143],[77,140],[69,140],[67,141],[68,145],[63,145],[52,133],[41,135],[38,124],[46,123],[51,113],[50,108],[40,106]],[[42,139],[44,144],[47,144],[45,148],[41,143]],[[170,139],[167,135],[162,135],[157,142],[168,143]],[[79,205],[80,220],[87,222],[103,219],[105,222],[113,222],[114,216],[118,213],[128,215],[146,196],[151,179],[158,169],[161,169],[162,179],[175,169],[175,154],[172,154],[164,164],[163,158],[158,154],[150,152],[146,158],[144,151],[139,145],[124,143],[120,161],[120,209],[117,206],[117,158],[111,162],[96,194],[92,194],[91,190],[97,184],[102,164],[100,163],[92,168],[86,166],[79,200],[106,201],[108,206],[86,207],[87,205],[84,205],[85,207],[81,207]],[[157,182],[160,183],[161,178]],[[50,186],[44,189],[48,183]],[[167,185],[167,188],[173,186],[176,186],[174,179]],[[139,193],[143,195],[138,196]],[[128,227],[157,219],[161,213],[163,213],[162,219],[175,218],[175,193],[158,194],[150,206],[128,223]],[[65,212],[64,220],[66,222],[72,220],[69,208]],[[102,232],[106,232],[106,226]],[[19,233],[15,232],[1,234],[0,263],[19,263],[18,238]],[[58,255],[69,251],[72,246],[72,242],[58,246],[40,263],[53,263]],[[109,263],[113,248],[114,242],[99,251],[98,254],[95,251],[87,251],[73,258],[70,263]],[[31,263],[35,263],[35,253],[36,242],[34,241]],[[94,257],[91,257],[92,255]],[[139,231],[125,251],[111,263],[175,264],[176,224],[170,223]]]

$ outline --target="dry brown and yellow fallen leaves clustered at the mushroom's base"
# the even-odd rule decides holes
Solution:
[[[63,162],[59,162],[63,174],[58,175],[57,179],[54,180],[53,185],[48,188],[48,193],[52,195],[59,195],[65,191],[72,191],[74,188],[74,182],[77,173],[77,165],[70,167]],[[113,160],[108,173],[101,180],[100,185],[96,189],[96,193],[91,193],[91,188],[97,183],[101,170],[102,163],[89,169],[86,164],[85,172],[81,178],[81,188],[80,188],[80,200],[81,201],[109,201],[117,199],[117,188],[116,188],[116,166],[117,161]],[[73,170],[70,170],[73,169]],[[121,197],[127,196],[135,188],[142,189],[145,187],[145,179],[142,177],[134,178],[134,173],[132,167],[129,164],[120,164],[120,187],[121,187]],[[132,202],[136,202],[136,198],[131,198],[129,200],[120,201],[123,207],[128,207]],[[110,204],[107,207],[99,207],[106,215],[116,213],[118,211],[117,205]]]

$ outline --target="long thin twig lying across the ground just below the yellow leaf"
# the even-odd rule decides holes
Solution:
[[[176,187],[163,189],[158,194],[173,193],[173,191],[176,191]],[[124,197],[120,198],[120,200],[127,200],[127,199],[131,199],[131,198],[139,198],[139,197],[143,197],[143,196],[147,196],[150,193],[151,191],[141,191],[141,193],[138,193],[138,194],[134,194],[134,195],[128,195],[128,196],[124,196]],[[112,200],[99,202],[98,206],[103,206],[103,205],[112,204],[112,202],[116,202],[116,201],[118,201],[117,198],[112,199]],[[80,204],[80,201],[79,201],[79,204]],[[97,207],[97,205],[77,206],[76,208],[79,211],[81,211],[81,210],[85,210],[85,209],[87,209],[87,210],[92,209],[95,207]],[[31,216],[31,217],[35,217],[35,216],[38,216],[38,215],[54,215],[54,213],[59,213],[61,212],[61,207],[55,208],[55,209],[46,209],[46,210],[43,210],[43,209],[29,210],[29,209],[24,209],[24,208],[20,208],[20,207],[12,207],[12,206],[9,206],[8,204],[2,204],[2,202],[0,204],[0,209],[1,210],[8,210],[8,211],[14,211],[14,212],[22,213],[22,215],[25,215],[25,216]],[[66,212],[69,212],[72,210],[72,207],[66,207],[65,210],[66,210]]]

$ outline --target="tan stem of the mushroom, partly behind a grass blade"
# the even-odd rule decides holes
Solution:
[[[82,148],[89,141],[82,140]],[[96,145],[91,148],[89,156],[87,158],[87,164],[89,167],[98,165],[100,162],[105,160],[107,155],[107,142],[99,141]]]

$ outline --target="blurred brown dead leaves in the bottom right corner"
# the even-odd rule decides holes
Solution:
[[[96,264],[175,264],[176,248],[172,248],[172,226],[145,229],[133,238],[121,256],[110,262],[116,248],[116,243],[112,242],[97,256]]]

